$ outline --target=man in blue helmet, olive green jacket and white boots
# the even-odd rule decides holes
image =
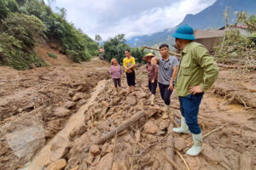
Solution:
[[[193,28],[179,26],[172,35],[182,58],[177,71],[175,88],[180,102],[181,127],[173,128],[175,133],[192,133],[193,146],[186,152],[197,156],[201,152],[202,135],[197,116],[203,94],[218,77],[218,65],[207,48],[195,40]]]

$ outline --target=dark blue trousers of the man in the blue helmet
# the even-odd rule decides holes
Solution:
[[[197,116],[202,97],[203,94],[189,94],[185,97],[178,96],[180,111],[183,117],[185,117],[186,123],[189,126],[189,131],[194,134],[201,133]]]

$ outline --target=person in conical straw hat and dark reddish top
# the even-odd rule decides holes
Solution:
[[[151,92],[151,105],[154,105],[154,96],[155,90],[157,88],[157,79],[158,79],[158,69],[159,66],[157,65],[156,59],[152,59],[154,54],[147,54],[143,57],[144,61],[147,61],[146,69],[148,71],[148,88]]]

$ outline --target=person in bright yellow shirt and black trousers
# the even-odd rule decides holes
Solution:
[[[135,90],[135,59],[130,54],[130,49],[125,50],[125,59],[124,59],[124,67],[125,67],[125,74],[127,83],[129,86],[129,92],[134,93]]]

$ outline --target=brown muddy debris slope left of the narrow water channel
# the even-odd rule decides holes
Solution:
[[[108,66],[94,60],[28,71],[0,67],[0,169],[32,160],[86,103],[96,83],[109,78]]]

